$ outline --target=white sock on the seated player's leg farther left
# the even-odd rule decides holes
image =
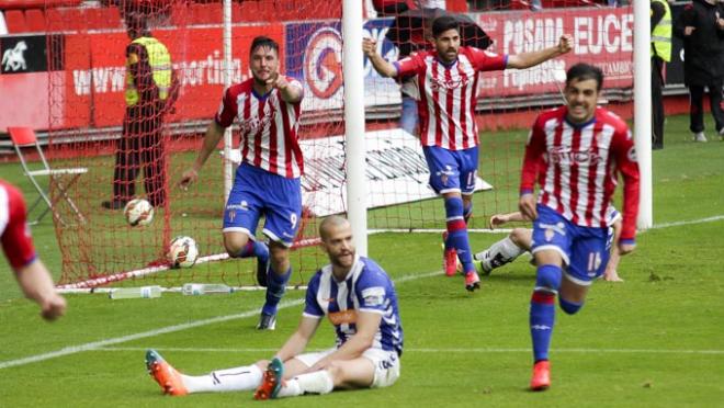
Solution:
[[[212,371],[206,375],[181,375],[189,393],[252,390],[261,384],[262,372],[256,365]]]

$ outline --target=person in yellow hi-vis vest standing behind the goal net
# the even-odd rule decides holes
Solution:
[[[126,14],[131,44],[126,47],[126,113],[113,172],[113,200],[109,209],[123,208],[136,193],[136,177],[144,167],[144,184],[152,206],[166,204],[163,115],[176,102],[178,81],[171,55],[148,30],[145,15]]]

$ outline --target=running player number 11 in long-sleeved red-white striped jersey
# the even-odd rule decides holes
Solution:
[[[539,115],[525,146],[519,207],[524,217],[534,219],[533,390],[551,385],[548,348],[556,294],[563,311],[577,313],[592,280],[606,269],[610,227],[606,215],[619,173],[624,183],[619,252],[626,254],[635,248],[638,165],[634,141],[625,122],[596,106],[602,83],[599,68],[587,64],[570,67],[566,105]],[[536,179],[538,203],[533,195]]]

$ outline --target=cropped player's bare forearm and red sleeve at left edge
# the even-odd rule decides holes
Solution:
[[[53,286],[53,277],[33,248],[25,219],[25,201],[12,184],[0,179],[0,243],[25,296],[41,306],[52,321],[66,313],[66,299]]]

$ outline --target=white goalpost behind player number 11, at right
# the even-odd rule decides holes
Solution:
[[[641,171],[638,229],[654,224],[652,178],[652,59],[649,2],[633,1],[634,12],[634,139]]]

